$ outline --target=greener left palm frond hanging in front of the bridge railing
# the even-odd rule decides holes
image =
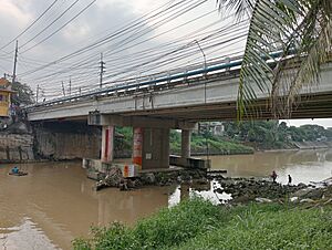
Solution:
[[[281,2],[278,4],[280,6]],[[256,2],[240,73],[239,119],[245,114],[247,116],[259,114],[260,111],[255,107],[253,102],[261,96],[259,93],[271,95],[276,77],[273,69],[278,64],[276,58],[283,54],[283,50],[289,46],[287,41],[294,30],[295,19],[287,13],[289,9],[279,8],[278,4],[269,0]],[[297,3],[287,1],[287,4],[293,8]],[[274,54],[271,54],[273,52]],[[288,52],[284,53],[288,54]]]

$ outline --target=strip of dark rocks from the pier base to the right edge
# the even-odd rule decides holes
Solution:
[[[114,168],[110,174],[96,184],[96,189],[116,187],[121,190],[142,188],[144,186],[170,186],[188,185],[195,190],[200,185],[209,186],[209,183],[218,183],[212,190],[218,194],[231,195],[229,204],[258,202],[314,202],[324,200],[332,202],[332,178],[310,185],[281,185],[269,179],[258,178],[230,178],[221,175],[212,175],[206,170],[176,169],[172,171],[142,173],[136,178],[123,178],[120,169]],[[220,200],[225,202],[225,200]]]

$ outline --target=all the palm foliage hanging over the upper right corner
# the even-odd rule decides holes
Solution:
[[[276,117],[290,116],[300,91],[319,83],[331,60],[331,0],[217,0],[219,10],[249,15],[240,72],[238,117],[256,114],[258,92],[270,95]]]

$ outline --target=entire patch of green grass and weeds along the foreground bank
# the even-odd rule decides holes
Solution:
[[[248,205],[227,208],[195,198],[162,209],[134,228],[93,228],[74,249],[332,249],[332,208]]]

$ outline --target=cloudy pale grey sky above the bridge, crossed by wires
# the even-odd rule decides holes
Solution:
[[[181,2],[181,0],[0,0],[0,48],[9,44],[0,49],[0,75],[12,73],[14,41],[11,40],[34,22],[52,3],[50,10],[18,38],[18,79],[34,91],[39,86],[41,95],[46,98],[68,94],[69,91],[76,93],[97,86],[101,53],[106,62],[104,82],[113,84],[162,71],[166,74],[169,69],[185,71],[191,65],[203,66],[204,60],[212,63],[243,51],[245,37],[241,35],[245,35],[246,22],[235,24],[231,13],[226,11],[220,14],[215,0]],[[197,7],[190,9],[189,3],[195,2]],[[166,10],[175,3],[178,6],[173,8],[174,12],[170,11],[168,17],[160,14],[145,19],[141,22],[139,29],[116,37],[91,51],[56,61],[107,35],[114,35],[116,31],[154,10],[160,8]],[[89,4],[91,6],[87,7]],[[79,14],[84,8],[87,9]],[[63,13],[66,9],[69,10]],[[70,21],[76,14],[79,15]],[[61,18],[51,24],[60,15]],[[65,25],[66,22],[69,23]],[[62,25],[64,28],[60,29]],[[59,32],[39,44],[58,29]],[[199,46],[206,54],[205,59]],[[188,55],[180,58],[185,53]],[[172,60],[175,55],[178,58]],[[51,62],[52,64],[48,65]],[[48,66],[42,69],[45,65]],[[34,72],[35,70],[38,71]],[[332,127],[331,119],[299,119],[289,123],[291,125],[314,123]]]

